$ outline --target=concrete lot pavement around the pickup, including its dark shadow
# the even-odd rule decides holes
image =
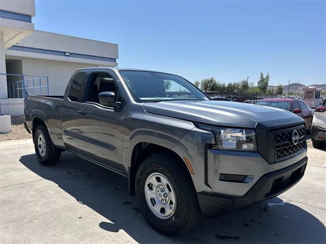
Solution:
[[[326,151],[308,156],[303,180],[281,196],[166,237],[146,224],[126,178],[68,152],[45,167],[31,139],[0,142],[0,243],[325,243]]]

